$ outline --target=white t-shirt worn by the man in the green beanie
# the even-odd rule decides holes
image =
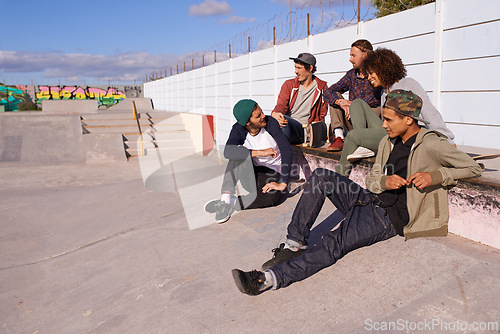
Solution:
[[[260,129],[260,132],[255,136],[247,133],[243,146],[249,150],[264,150],[269,147],[274,148],[278,152],[278,154],[276,154],[276,158],[273,158],[272,156],[253,157],[252,161],[256,166],[265,166],[281,173],[281,153],[278,148],[278,144],[276,143],[276,140],[274,140],[273,136],[266,131],[266,129]]]

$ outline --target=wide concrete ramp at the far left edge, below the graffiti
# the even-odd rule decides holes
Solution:
[[[57,165],[84,161],[80,116],[0,115],[0,162]]]

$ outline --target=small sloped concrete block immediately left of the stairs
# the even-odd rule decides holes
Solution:
[[[86,162],[127,161],[123,137],[118,133],[89,133],[83,136]]]

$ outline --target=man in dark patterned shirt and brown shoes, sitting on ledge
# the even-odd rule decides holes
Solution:
[[[327,148],[328,151],[342,151],[344,147],[344,131],[352,129],[350,124],[350,106],[355,99],[362,99],[380,115],[380,88],[373,88],[370,82],[359,73],[361,63],[373,46],[366,39],[359,39],[351,45],[349,61],[352,69],[342,79],[323,92],[325,101],[332,106],[330,118],[334,129],[335,140]],[[344,99],[343,93],[349,91],[349,100]]]

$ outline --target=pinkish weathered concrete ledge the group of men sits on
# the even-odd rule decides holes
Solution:
[[[335,170],[339,153],[321,149],[292,146],[294,151],[294,176],[308,178],[316,168]],[[365,179],[374,158],[363,159],[356,165],[350,179],[365,187]],[[460,180],[448,193],[450,220],[448,231],[500,249],[500,184],[482,177]]]

